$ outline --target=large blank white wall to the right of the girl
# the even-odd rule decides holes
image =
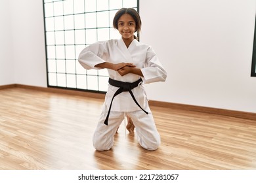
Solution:
[[[141,41],[167,69],[157,101],[256,112],[255,0],[140,0]],[[156,90],[157,88],[157,90]]]

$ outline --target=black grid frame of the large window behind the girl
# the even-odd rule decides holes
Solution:
[[[66,35],[65,31],[69,31],[69,30],[74,31],[74,35],[75,35],[75,31],[77,31],[77,30],[84,30],[86,32],[86,30],[88,30],[88,29],[95,29],[95,31],[97,31],[98,29],[102,29],[102,27],[98,27],[97,22],[96,22],[96,26],[95,27],[88,28],[88,27],[86,27],[84,25],[85,26],[84,28],[82,28],[82,29],[81,28],[77,28],[76,29],[75,28],[75,15],[77,15],[77,14],[84,14],[84,18],[85,18],[86,14],[89,14],[89,13],[96,13],[96,16],[97,16],[98,15],[97,13],[107,12],[108,11],[108,14],[109,14],[108,21],[110,22],[110,25],[109,25],[109,27],[106,27],[106,29],[108,29],[109,37],[110,37],[110,31],[111,31],[111,29],[113,29],[112,20],[110,18],[110,12],[118,10],[119,8],[118,9],[111,8],[110,7],[110,1],[108,1],[108,10],[97,10],[96,9],[95,11],[87,12],[86,11],[86,7],[84,7],[84,12],[75,12],[75,10],[74,10],[75,9],[74,8],[75,7],[75,3],[74,3],[75,0],[73,0],[73,1],[71,0],[72,3],[73,3],[72,4],[73,14],[65,14],[64,8],[63,8],[62,9],[63,10],[63,14],[62,15],[55,15],[54,14],[54,5],[56,5],[56,4],[54,4],[54,3],[62,1],[62,3],[63,3],[62,5],[64,7],[64,1],[63,0],[46,1],[46,2],[45,1],[46,0],[43,0],[43,21],[44,21],[44,33],[45,33],[45,59],[46,59],[46,67],[47,67],[47,87],[48,88],[60,88],[60,89],[65,89],[65,90],[78,90],[78,91],[93,92],[93,93],[106,93],[106,90],[107,90],[106,88],[107,87],[105,86],[105,80],[107,80],[108,74],[106,74],[106,72],[105,72],[103,75],[100,75],[99,74],[100,72],[98,70],[96,70],[96,74],[93,74],[93,75],[88,74],[89,72],[87,73],[87,71],[85,71],[86,74],[77,73],[77,65],[79,65],[79,63],[77,61],[77,57],[78,57],[77,56],[77,50],[74,50],[74,58],[72,58],[72,59],[67,58],[67,56],[66,56],[66,49],[67,49],[66,46],[68,44],[66,44],[66,41],[64,41],[63,44],[58,45],[56,43],[56,32],[62,31],[63,34],[64,34],[64,40],[65,40],[65,35]],[[86,5],[85,1],[86,0],[83,1],[84,5]],[[96,3],[98,3],[98,1],[100,1],[100,0],[95,0]],[[122,4],[122,7],[123,7],[123,2],[125,0],[119,0],[119,1],[122,2],[121,4]],[[134,4],[135,4],[135,2],[137,3],[137,7],[133,7],[133,8],[137,9],[137,11],[139,12],[139,0],[135,0]],[[46,3],[53,3],[53,12],[52,12],[53,15],[52,16],[49,16],[49,14],[47,14],[47,12],[45,11],[45,4]],[[51,5],[50,5],[50,7],[51,7]],[[60,17],[64,21],[66,16],[69,16],[69,15],[72,15],[74,17],[74,29],[68,29],[67,30],[66,27],[63,25],[63,29],[58,30],[58,29],[56,29],[54,24],[53,24],[53,26],[54,26],[53,30],[49,31],[49,29],[47,29],[47,21],[48,21],[47,18],[49,18],[49,20],[52,18],[53,22],[54,22],[54,21],[56,21],[56,19],[55,19],[56,17]],[[96,20],[96,21],[98,21],[98,20]],[[86,22],[85,22],[85,24],[86,24]],[[54,44],[53,45],[47,43],[47,39],[49,40],[49,38],[47,38],[47,34],[51,34],[51,33],[54,35],[54,41],[53,41]],[[139,39],[139,33],[137,33],[137,37]],[[96,36],[96,41],[98,41],[98,35]],[[92,43],[93,42],[88,43],[88,42],[85,41],[84,44],[76,44],[76,42],[74,41],[74,44],[71,44],[71,45],[73,45],[74,49],[76,49],[77,45],[78,46],[83,46],[85,48],[86,46],[88,46],[89,44],[92,44]],[[47,50],[48,48],[51,48],[51,47],[54,50],[54,54],[55,54],[55,57],[53,57],[53,58],[49,57],[49,55],[51,55],[51,51]],[[56,56],[56,53],[57,53],[56,48],[57,47],[62,49],[62,50],[64,50],[64,52],[63,52],[64,53],[64,58],[58,58]],[[67,66],[66,65],[67,65],[69,60],[70,60],[70,62],[74,62],[74,64],[75,64],[75,66],[74,66],[75,73],[68,73],[68,71],[67,71]],[[51,68],[49,68],[49,64],[50,64],[51,61],[53,62],[53,65],[55,65],[55,70],[54,71],[52,71]],[[58,71],[57,63],[60,62],[60,61],[64,61],[64,63],[63,63],[63,65],[65,65],[64,66],[64,68],[65,68],[64,72],[59,72]],[[55,80],[53,81],[53,78],[50,78],[49,75],[54,75],[54,77],[55,77],[54,79]],[[61,86],[61,84],[60,84],[60,82],[58,80],[59,79],[58,76],[60,76],[60,75],[62,75],[62,80],[64,80],[63,86]],[[72,82],[72,87],[70,87],[70,85],[68,84],[68,76],[73,77],[73,80],[75,80],[75,84],[74,84],[74,81]],[[79,86],[78,86],[79,84],[77,84],[77,80],[78,80],[79,76],[86,78],[86,80],[84,80],[84,82],[85,82],[85,87],[84,88],[79,88]],[[96,81],[97,84],[96,84],[96,82],[95,83],[93,82],[95,84],[95,86],[97,86],[97,89],[95,89],[95,90],[91,90],[91,88],[89,87],[88,82],[90,82],[90,81],[88,81],[88,80],[90,80],[89,79],[90,76],[94,76],[93,79],[97,80]],[[99,84],[100,78],[103,79],[103,81],[104,81],[104,88],[102,90],[100,90],[100,86],[101,86]],[[51,83],[51,80],[53,81],[52,83]],[[108,84],[108,83],[106,82],[106,84]]]

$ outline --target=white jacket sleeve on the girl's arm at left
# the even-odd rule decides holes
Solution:
[[[85,69],[101,69],[95,67],[98,63],[105,62],[104,56],[105,42],[95,42],[84,48],[79,54],[78,61]]]

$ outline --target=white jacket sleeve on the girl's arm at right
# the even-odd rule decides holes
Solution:
[[[165,81],[167,73],[152,48],[148,48],[144,68],[141,69],[144,84]]]

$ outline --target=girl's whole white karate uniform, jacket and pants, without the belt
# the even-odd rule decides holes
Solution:
[[[123,39],[95,42],[81,51],[78,61],[85,69],[101,69],[95,67],[95,65],[105,61],[133,63],[142,71],[144,76],[141,77],[143,80],[142,84],[165,81],[167,76],[154,50],[136,39],[131,42],[129,48],[127,48]],[[108,69],[108,73],[110,78],[122,82],[135,82],[140,78],[139,75],[130,73],[121,76],[117,71],[111,69]],[[149,114],[143,112],[136,105],[129,92],[123,92],[114,98],[108,118],[108,125],[104,124],[110,102],[117,89],[117,87],[111,85],[108,87],[102,114],[93,136],[93,144],[96,150],[110,150],[112,148],[114,135],[117,127],[123,121],[124,112],[133,119],[135,133],[137,133],[140,146],[148,150],[156,150],[160,146],[160,135],[156,129],[152,112],[148,107],[146,92],[142,85],[134,88],[132,92],[139,105]]]

